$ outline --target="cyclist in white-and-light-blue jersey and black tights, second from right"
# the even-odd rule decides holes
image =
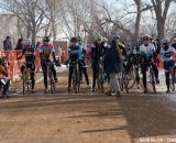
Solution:
[[[147,69],[148,63],[152,63],[152,59],[156,59],[155,46],[152,43],[150,43],[150,35],[147,35],[147,34],[143,36],[143,44],[140,46],[140,53],[142,56],[141,69],[142,69],[142,75],[143,75],[144,92],[147,92],[146,69]],[[156,81],[156,84],[160,84],[158,69],[157,69],[156,65],[152,64],[152,68],[155,73],[155,81]]]

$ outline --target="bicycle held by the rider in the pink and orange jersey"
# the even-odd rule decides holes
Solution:
[[[54,94],[56,91],[56,82],[52,72],[52,66],[53,66],[53,62],[46,62],[46,69],[47,69],[47,77],[48,77],[48,82],[51,87],[51,94]]]

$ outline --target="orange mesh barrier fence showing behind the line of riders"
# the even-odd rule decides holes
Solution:
[[[21,61],[18,61],[18,57],[21,55],[22,51],[0,51],[0,57],[6,57],[8,62],[8,73],[9,77],[13,81],[16,76],[19,76],[20,67],[22,64],[24,64],[24,57]],[[62,62],[64,62],[67,58],[67,54],[63,53],[62,55]],[[174,58],[176,61],[176,54],[174,55]],[[160,59],[160,68],[163,68],[163,63],[161,61],[161,55],[158,55]],[[36,72],[40,69],[40,53],[35,51],[35,68]]]

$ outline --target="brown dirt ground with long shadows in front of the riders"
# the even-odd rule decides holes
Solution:
[[[176,143],[176,102],[165,94],[68,95],[66,82],[63,73],[56,94],[40,82],[32,96],[0,99],[0,143]]]

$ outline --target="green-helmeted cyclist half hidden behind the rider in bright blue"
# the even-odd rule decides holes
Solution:
[[[86,48],[86,45],[82,45],[82,43],[81,43],[82,38],[80,36],[78,36],[77,40],[78,40],[78,45],[81,48],[81,59],[79,59],[80,80],[82,79],[82,73],[84,73],[87,86],[88,86],[88,88],[90,88],[89,77],[88,77],[87,66],[86,66],[86,53],[87,53],[87,48]]]

